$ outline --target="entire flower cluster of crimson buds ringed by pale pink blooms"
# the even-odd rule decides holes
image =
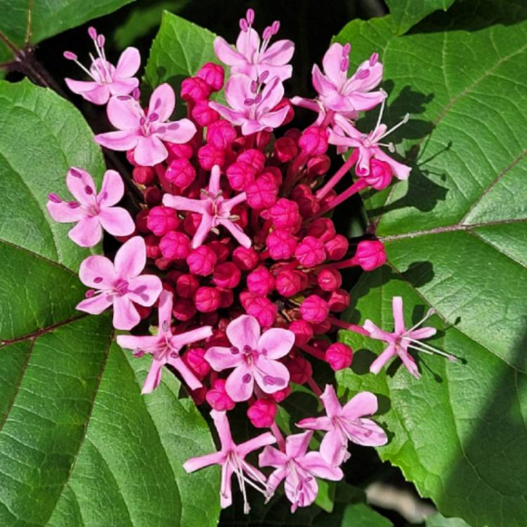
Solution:
[[[187,117],[177,121],[170,120],[176,104],[171,86],[157,86],[145,106],[134,77],[138,51],[127,48],[114,67],[106,59],[103,35],[90,28],[98,57],[90,70],[83,69],[92,80],[67,79],[67,85],[106,104],[115,130],[95,141],[126,152],[143,204],[132,217],[115,206],[124,194],[117,172],[108,170],[97,192],[90,174],[72,167],[66,184],[74,200],[51,193],[48,212],[56,221],[76,223],[70,238],[82,247],[96,245],[102,230],[122,242],[113,261],[89,256],[82,262],[79,278],[89,290],[77,308],[97,314],[112,306],[115,328],[134,330],[119,334],[117,343],[136,356],[152,356],[143,393],[153,391],[164,365],[171,365],[196,403],[212,408],[221,449],[188,460],[185,469],[221,464],[222,507],[230,505],[230,479],[236,474],[246,510],[246,483],[269,497],[285,481],[294,512],[315,500],[315,477],[343,477],[339,466],[349,457],[349,441],[376,446],[387,441],[384,430],[365,417],[377,411],[375,395],[360,392],[342,406],[332,385],[322,393],[313,379],[313,359],[335,371],[351,365],[352,349],[330,344],[337,330],[386,341],[371,365],[374,373],[397,355],[418,377],[408,350],[442,352],[422,342],[436,331],[417,329],[424,320],[405,330],[400,297],[393,299],[393,333],[370,320],[358,326],[338,318],[349,305],[341,269],[372,271],[386,254],[382,242],[372,238],[350,245],[330,213],[360,190],[381,190],[393,176],[410,174],[382,150],[394,152],[391,143],[381,141],[408,116],[391,130],[381,122],[387,94],[379,89],[379,57],[374,53],[349,76],[349,44],[332,44],[323,72],[313,66],[318,96],[289,99],[282,83],[292,75],[294,44],[271,44],[278,22],[262,37],[253,24],[249,9],[235,48],[216,38],[214,51],[229,67],[227,80],[216,63],[185,79],[181,98]],[[70,51],[65,57],[77,61]],[[225,104],[213,100],[222,89]],[[285,129],[295,106],[316,113],[304,130]],[[377,106],[375,128],[359,131],[360,112]],[[351,151],[327,177],[330,146]],[[346,177],[349,183],[337,193],[335,186]],[[157,323],[155,334],[141,334],[149,323]],[[302,419],[297,426],[306,431],[284,438],[275,415],[292,384],[309,386],[326,415]],[[236,445],[226,412],[245,403],[254,427],[271,431]],[[308,452],[315,431],[325,433],[320,450]],[[245,461],[261,447],[260,467],[274,469],[267,477]]]

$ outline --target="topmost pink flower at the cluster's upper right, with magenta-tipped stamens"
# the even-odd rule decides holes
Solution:
[[[373,53],[370,59],[365,60],[348,78],[350,49],[349,44],[332,44],[322,61],[324,74],[318,65],[313,65],[313,87],[318,92],[317,100],[294,97],[291,102],[320,112],[321,115],[332,111],[350,119],[355,118],[357,112],[371,110],[381,103],[386,93],[382,90],[371,91],[382,80],[379,56]]]

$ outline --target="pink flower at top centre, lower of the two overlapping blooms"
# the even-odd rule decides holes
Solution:
[[[261,130],[272,130],[284,122],[288,108],[273,108],[284,96],[284,86],[279,77],[273,77],[261,90],[261,84],[244,74],[228,79],[225,98],[230,106],[211,101],[209,106],[231,124],[242,127],[242,134],[249,136]]]

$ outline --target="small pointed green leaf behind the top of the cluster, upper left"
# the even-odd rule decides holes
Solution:
[[[165,11],[145,67],[145,81],[152,87],[168,82],[176,93],[181,81],[206,62],[218,63],[209,30]]]

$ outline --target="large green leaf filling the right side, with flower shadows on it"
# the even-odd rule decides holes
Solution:
[[[337,37],[357,56],[381,54],[386,119],[412,116],[394,134],[412,164],[408,183],[365,194],[389,265],[353,289],[351,318],[391,330],[393,295],[409,321],[433,306],[433,344],[464,359],[421,356],[417,381],[403,368],[357,375],[372,360],[360,351],[339,382],[389,397],[394,435],[381,457],[443,514],[477,526],[527,524],[526,17],[519,3],[467,1],[403,37],[385,19]]]

